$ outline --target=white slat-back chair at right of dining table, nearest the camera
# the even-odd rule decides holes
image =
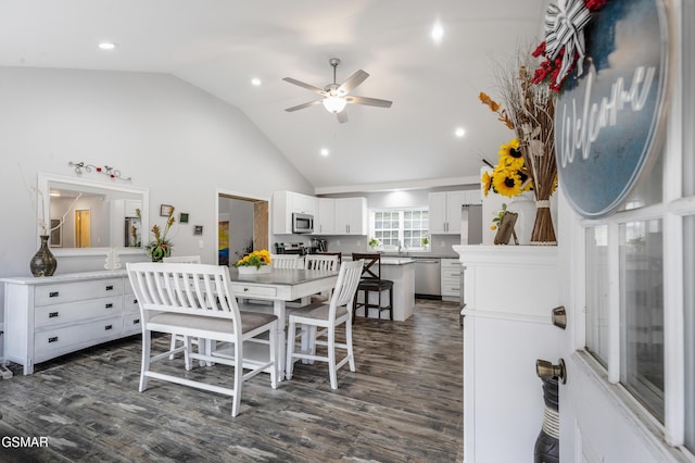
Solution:
[[[293,312],[289,317],[288,339],[287,339],[287,365],[286,376],[292,378],[292,371],[296,360],[320,361],[328,363],[331,389],[338,389],[338,370],[345,363],[350,365],[350,371],[355,371],[355,359],[352,349],[352,304],[357,290],[357,284],[362,275],[364,262],[345,262],[340,266],[338,281],[333,289],[333,295],[328,304],[320,303],[311,310]],[[345,342],[336,342],[336,327],[345,325]],[[298,345],[296,328],[301,327],[302,338],[311,336],[306,342],[301,339]],[[315,329],[311,329],[315,328]],[[328,350],[326,355],[316,354],[316,346],[325,346]],[[300,349],[299,351],[296,349]],[[336,349],[344,349],[345,356],[337,362]]]

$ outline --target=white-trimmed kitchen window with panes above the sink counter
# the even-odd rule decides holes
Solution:
[[[369,237],[379,240],[377,249],[386,251],[422,251],[429,242],[429,210],[383,209],[370,211]]]

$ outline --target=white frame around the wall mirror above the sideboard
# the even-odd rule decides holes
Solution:
[[[110,191],[123,191],[132,195],[142,196],[142,208],[140,209],[142,230],[150,229],[150,190],[148,188],[134,187],[132,185],[123,185],[115,183],[97,182],[81,177],[67,177],[64,175],[47,174],[39,172],[38,174],[38,195],[43,196],[43,216],[50,217],[50,184],[58,182],[61,184],[75,185],[77,187],[100,188]],[[40,246],[40,230],[37,225],[37,245]],[[114,246],[119,254],[141,254],[144,253],[146,240],[142,239],[140,248],[126,248],[125,246]],[[85,255],[104,255],[111,247],[101,248],[51,248],[51,253],[55,256],[85,256]]]

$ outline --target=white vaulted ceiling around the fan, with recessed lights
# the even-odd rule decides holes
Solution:
[[[0,65],[173,74],[243,111],[316,192],[473,183],[511,137],[478,93],[538,40],[545,3],[0,0]],[[344,124],[320,104],[286,112],[320,97],[282,78],[324,88],[330,58],[339,84],[369,74],[352,95],[393,105],[349,104]]]

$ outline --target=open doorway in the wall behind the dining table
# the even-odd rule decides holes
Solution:
[[[244,254],[268,249],[268,200],[217,193],[217,263],[229,265]]]

